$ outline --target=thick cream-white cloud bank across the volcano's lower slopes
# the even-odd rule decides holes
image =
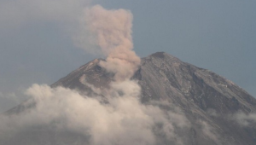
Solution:
[[[31,126],[54,125],[60,130],[91,136],[90,144],[94,145],[141,145],[154,144],[155,134],[172,140],[177,137],[174,125],[187,126],[182,123],[187,120],[182,114],[139,102],[140,88],[136,82],[123,83],[109,91],[114,96],[108,97],[108,103],[102,103],[99,96],[81,96],[75,90],[33,84],[26,94],[32,96],[36,107],[20,115],[1,116],[0,134],[8,136]],[[122,95],[117,91],[122,91]],[[157,124],[162,127],[154,131]]]

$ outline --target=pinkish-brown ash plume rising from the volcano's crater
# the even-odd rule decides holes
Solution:
[[[85,11],[85,22],[90,42],[107,56],[106,61],[101,61],[101,67],[115,73],[116,81],[131,78],[140,64],[140,58],[132,50],[131,12],[125,9],[107,10],[96,5]]]

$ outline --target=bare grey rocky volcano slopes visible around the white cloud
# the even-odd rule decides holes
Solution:
[[[98,62],[91,61],[52,86],[62,85],[79,90],[82,87],[84,90],[86,85],[81,83],[81,79],[96,87],[107,86],[112,75],[104,72]],[[212,132],[215,131],[214,136],[218,138],[218,141],[214,141],[216,144],[256,143],[255,136],[252,136],[255,128],[241,127],[230,119],[238,111],[255,113],[256,100],[230,80],[164,52],[143,58],[141,67],[132,79],[138,80],[141,85],[141,99],[144,103],[161,100],[175,104],[183,110],[192,123],[186,136],[194,144],[204,144],[212,140],[208,138],[204,141],[204,133],[200,127],[196,127],[201,126],[201,121],[210,125]]]

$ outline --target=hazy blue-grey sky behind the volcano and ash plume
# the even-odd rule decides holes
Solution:
[[[130,9],[138,55],[165,51],[256,96],[256,1],[91,0]],[[0,1],[0,112],[34,83],[53,84],[100,55],[73,42],[85,0]],[[88,45],[89,46],[89,45]]]

